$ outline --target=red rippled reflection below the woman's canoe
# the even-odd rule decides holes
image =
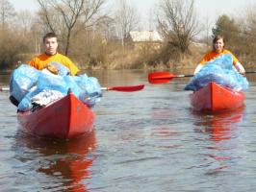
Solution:
[[[238,108],[232,111],[221,113],[199,113],[193,111],[197,121],[195,132],[203,132],[209,135],[205,142],[205,160],[211,161],[206,174],[217,174],[232,166],[234,159],[241,158],[239,155],[239,123],[243,120],[243,109]],[[216,164],[218,162],[218,164]]]

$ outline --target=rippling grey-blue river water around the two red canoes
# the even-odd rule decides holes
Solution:
[[[142,71],[94,71],[102,86],[145,84],[138,92],[106,91],[94,131],[64,141],[19,131],[9,93],[0,92],[0,191],[255,191],[256,74],[245,106],[192,110],[187,78],[148,84]],[[9,76],[0,76],[8,85]]]

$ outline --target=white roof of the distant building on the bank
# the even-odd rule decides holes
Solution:
[[[134,42],[162,41],[157,31],[132,31],[130,36]]]

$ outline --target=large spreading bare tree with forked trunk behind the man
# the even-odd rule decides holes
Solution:
[[[104,3],[105,0],[38,0],[46,29],[64,36],[65,55],[74,31],[86,29],[102,19],[98,12]]]

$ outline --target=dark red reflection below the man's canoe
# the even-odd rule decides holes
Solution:
[[[94,131],[68,141],[36,138],[19,132],[16,141],[17,146],[23,146],[25,154],[15,158],[24,164],[28,163],[26,161],[38,160],[39,163],[34,163],[35,171],[52,178],[53,183],[42,180],[44,189],[88,191],[85,182],[90,179],[89,169],[95,158],[91,154],[96,144]]]

